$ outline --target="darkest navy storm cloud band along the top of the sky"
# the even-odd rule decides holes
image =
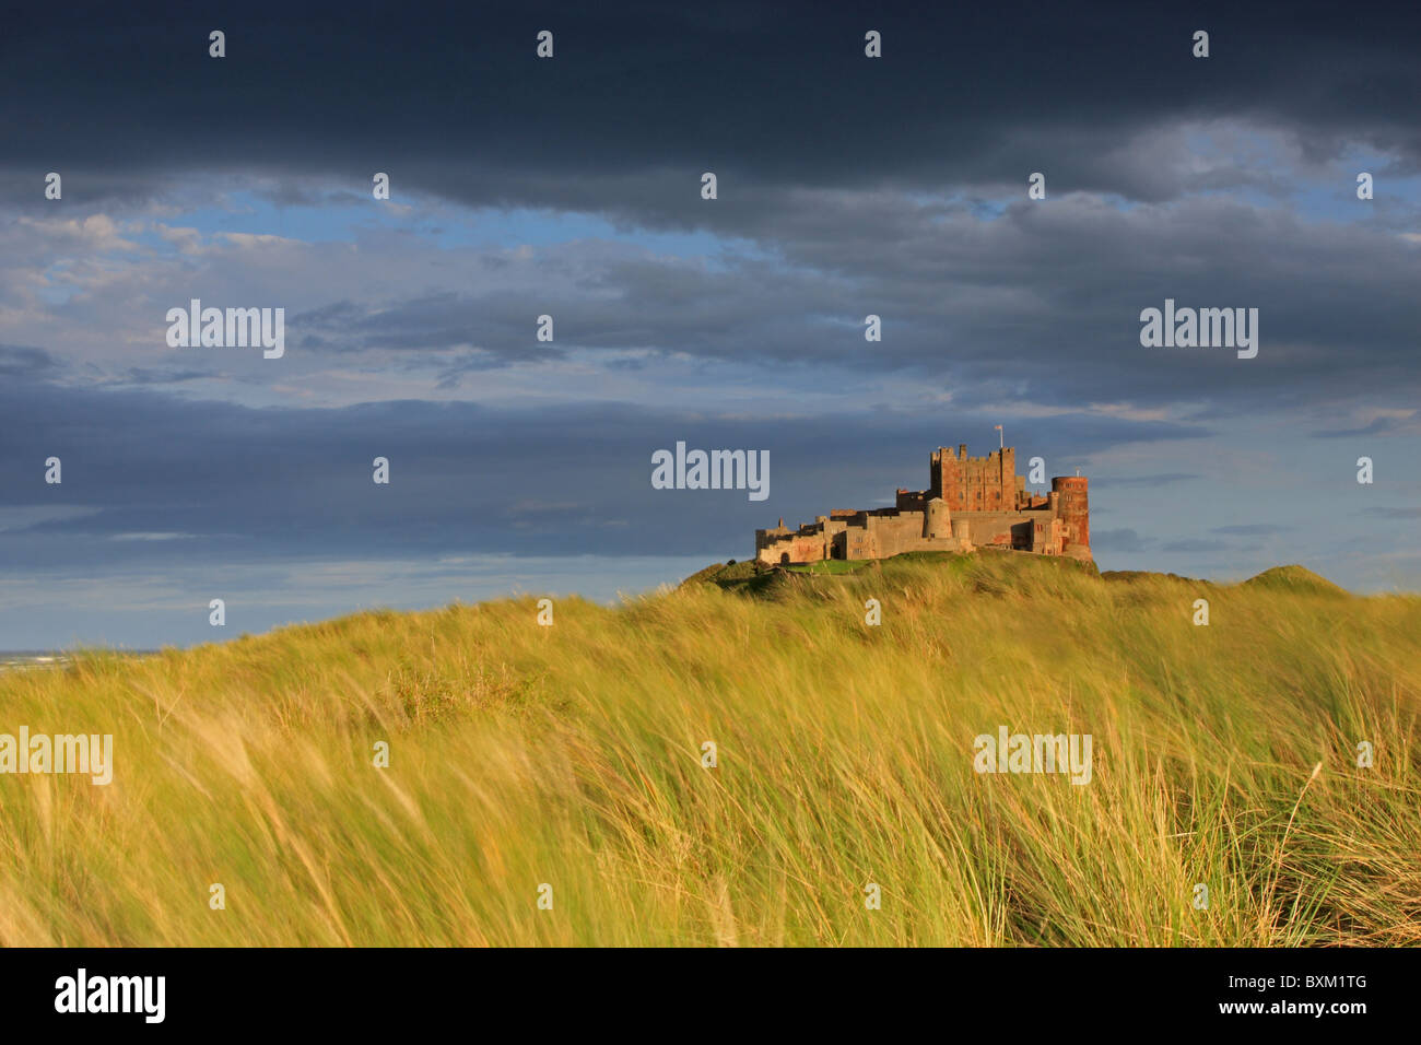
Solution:
[[[1418,24],[1401,4],[23,6],[0,38],[0,148],[10,181],[82,171],[75,200],[234,166],[391,169],[466,202],[682,223],[706,212],[679,203],[678,175],[705,169],[730,192],[1047,169],[1061,191],[1160,200],[1269,182],[1118,151],[1171,121],[1243,118],[1310,159],[1370,142],[1415,169]],[[882,60],[863,57],[870,27]],[[212,28],[225,60],[206,54]],[[541,28],[551,61],[533,55]],[[1196,28],[1208,60],[1189,54]],[[672,175],[659,192],[651,171]]]

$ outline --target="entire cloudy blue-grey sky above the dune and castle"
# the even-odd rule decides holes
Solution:
[[[1236,7],[7,13],[0,648],[610,601],[998,424],[1101,569],[1421,590],[1421,13]],[[1167,299],[1258,355],[1142,345]],[[654,489],[676,442],[769,496]]]

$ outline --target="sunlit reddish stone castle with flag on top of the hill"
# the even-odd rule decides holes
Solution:
[[[894,508],[836,509],[790,530],[780,519],[755,532],[762,563],[821,559],[887,559],[902,552],[1015,549],[1090,560],[1090,503],[1086,476],[1056,476],[1046,496],[1029,493],[1016,473],[1016,448],[969,458],[939,446],[925,491],[898,491]]]

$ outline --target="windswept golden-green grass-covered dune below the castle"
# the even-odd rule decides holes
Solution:
[[[115,769],[0,776],[0,943],[1421,943],[1421,599],[1304,574],[742,566],[4,672]],[[975,772],[1003,725],[1090,782]]]

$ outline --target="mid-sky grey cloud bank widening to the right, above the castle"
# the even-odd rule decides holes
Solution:
[[[466,293],[340,300],[301,310],[290,330],[317,353],[462,354],[432,363],[446,380],[581,347],[931,374],[968,405],[1209,400],[1201,419],[1314,405],[1320,395],[1400,404],[1421,392],[1412,347],[1421,254],[1391,235],[1212,199],[1130,213],[1083,198],[1049,210],[1020,203],[990,222],[961,216],[939,229],[919,212],[895,198],[865,216],[853,195],[836,195],[772,222],[763,235],[780,243],[776,262],[728,252],[709,267],[581,242],[537,253],[512,283],[485,291],[479,274],[499,256],[472,253],[445,262],[468,272]],[[351,279],[367,273],[354,267]],[[1141,347],[1141,309],[1167,297],[1256,307],[1259,357]],[[865,345],[870,311],[882,316],[884,340]],[[554,344],[533,338],[544,313]]]

